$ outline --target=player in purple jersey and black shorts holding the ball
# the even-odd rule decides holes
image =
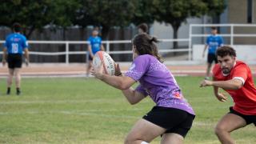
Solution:
[[[133,64],[122,75],[118,64],[114,76],[103,74],[103,67],[94,67],[95,78],[122,90],[134,105],[150,96],[156,106],[135,123],[126,144],[147,144],[162,135],[162,143],[182,143],[194,120],[194,110],[183,97],[174,75],[162,63],[155,45],[156,38],[138,34],[132,40]],[[134,90],[133,85],[139,82]]]

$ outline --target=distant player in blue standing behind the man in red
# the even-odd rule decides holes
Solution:
[[[221,36],[218,35],[218,30],[216,27],[211,27],[211,35],[207,37],[206,46],[202,52],[202,58],[205,57],[206,49],[208,48],[208,55],[207,55],[207,69],[206,69],[206,78],[210,78],[210,69],[213,62],[217,63],[216,58],[216,50],[218,47],[223,46],[223,39]]]

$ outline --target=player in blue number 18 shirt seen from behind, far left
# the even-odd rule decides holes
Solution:
[[[8,62],[9,75],[7,78],[7,91],[6,94],[10,94],[10,86],[12,84],[13,77],[15,76],[16,94],[21,94],[21,75],[20,70],[22,68],[22,54],[24,51],[26,66],[29,64],[29,50],[26,42],[26,37],[21,34],[22,26],[19,23],[14,23],[13,34],[9,34],[6,37],[6,42],[3,48],[2,65],[5,66]]]

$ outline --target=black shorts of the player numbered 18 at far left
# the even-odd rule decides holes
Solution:
[[[8,54],[7,55],[8,68],[21,68],[22,67],[22,54]]]

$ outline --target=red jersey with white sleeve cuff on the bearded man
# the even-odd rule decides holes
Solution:
[[[256,88],[249,66],[244,62],[237,61],[230,70],[230,74],[224,76],[219,64],[213,69],[215,81],[226,81],[233,78],[242,80],[243,86],[238,90],[226,90],[234,100],[233,109],[241,114],[256,115]]]

